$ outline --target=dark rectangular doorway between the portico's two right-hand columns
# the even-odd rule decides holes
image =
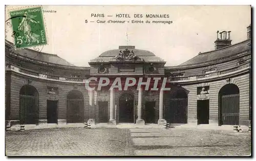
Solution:
[[[155,123],[155,101],[145,102],[145,123]]]

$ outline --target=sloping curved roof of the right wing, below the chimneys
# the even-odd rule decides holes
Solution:
[[[180,65],[204,63],[207,61],[212,61],[212,60],[228,57],[228,56],[231,56],[234,54],[238,54],[238,53],[247,51],[250,49],[250,46],[248,45],[248,42],[250,42],[250,41],[251,40],[248,39],[248,40],[245,40],[245,41],[233,44],[233,45],[229,45],[228,47],[225,47],[225,48],[221,48],[218,50],[209,51],[209,52],[205,52],[205,53],[199,53],[194,58],[192,58]]]

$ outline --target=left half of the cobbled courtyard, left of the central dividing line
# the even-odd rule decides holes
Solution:
[[[58,128],[6,132],[6,155],[131,155],[128,129]]]

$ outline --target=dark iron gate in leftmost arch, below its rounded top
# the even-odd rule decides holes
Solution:
[[[19,95],[20,124],[36,124],[38,121],[37,98],[31,95]]]

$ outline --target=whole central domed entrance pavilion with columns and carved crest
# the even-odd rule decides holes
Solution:
[[[108,102],[105,112],[108,124],[162,125],[165,122],[162,90],[167,80],[165,61],[149,51],[120,46],[118,50],[102,53],[89,64],[91,77],[86,87],[94,89],[90,91],[94,93],[90,102],[94,102],[96,124],[101,123],[99,118],[104,112],[100,111],[105,110],[98,103],[102,100]]]

